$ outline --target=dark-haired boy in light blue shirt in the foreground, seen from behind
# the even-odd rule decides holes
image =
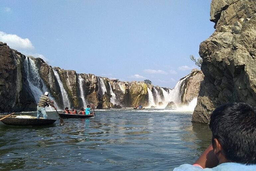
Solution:
[[[209,125],[212,143],[196,162],[174,171],[256,170],[256,111],[246,103],[216,108]]]

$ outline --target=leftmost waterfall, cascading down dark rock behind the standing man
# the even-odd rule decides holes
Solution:
[[[44,81],[39,75],[38,68],[35,65],[35,62],[29,57],[26,57],[24,60],[24,68],[27,74],[27,81],[29,83],[29,88],[34,96],[36,103],[38,103],[41,95],[43,95],[46,91],[48,91],[48,89],[46,88]],[[57,109],[59,109],[58,104],[55,102],[54,98],[50,94],[49,94],[49,98],[50,100],[54,101],[54,106]],[[50,108],[46,108],[46,109],[47,111],[50,110]]]

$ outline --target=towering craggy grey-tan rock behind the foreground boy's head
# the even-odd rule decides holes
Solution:
[[[225,103],[256,99],[256,2],[212,0],[215,32],[200,44],[205,75],[192,121],[209,123],[211,112]]]

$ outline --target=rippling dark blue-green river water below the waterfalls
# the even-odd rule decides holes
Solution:
[[[0,122],[0,170],[172,170],[211,143],[208,126],[191,119],[192,112],[127,108],[64,119],[62,127],[59,120],[41,127]]]

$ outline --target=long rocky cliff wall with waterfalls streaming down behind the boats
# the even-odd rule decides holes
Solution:
[[[41,58],[26,57],[1,42],[0,55],[0,113],[35,111],[45,91],[50,92],[50,99],[60,110],[71,106],[79,109],[91,103],[98,108],[161,107],[175,101],[171,99],[179,99],[179,106],[197,97],[203,78],[201,71],[193,70],[172,90],[52,67]]]

